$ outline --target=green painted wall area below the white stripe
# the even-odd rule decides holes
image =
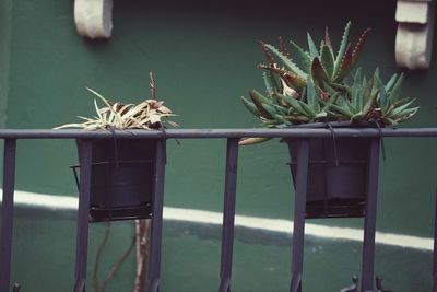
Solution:
[[[26,211],[23,211],[26,212]],[[47,217],[33,213],[27,218],[19,211],[15,223],[13,281],[23,291],[71,291],[73,285],[74,222],[71,215]],[[56,218],[57,220],[54,220]],[[54,233],[54,231],[57,231]],[[128,247],[132,225],[113,223],[103,252],[99,279]],[[288,291],[291,237],[274,232],[262,233],[236,229],[233,261],[233,291]],[[91,227],[88,289],[92,288],[94,255],[103,238],[104,225]],[[162,291],[216,291],[220,266],[218,227],[190,225],[173,221],[164,224]],[[47,238],[50,237],[50,241]],[[350,285],[351,277],[359,273],[361,244],[335,242],[308,236],[305,249],[304,291],[339,291]],[[60,256],[61,255],[61,256]],[[399,292],[430,291],[426,273],[432,266],[429,253],[377,245],[377,275],[383,283]],[[107,285],[107,292],[131,291],[134,261],[131,257]],[[38,280],[37,280],[38,279]]]

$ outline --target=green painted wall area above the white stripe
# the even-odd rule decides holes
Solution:
[[[92,115],[93,96],[85,86],[125,102],[138,102],[149,94],[147,72],[154,70],[158,96],[180,115],[177,120],[184,128],[257,127],[257,120],[240,105],[239,96],[249,87],[262,89],[260,72],[255,69],[263,61],[258,40],[275,42],[277,35],[293,35],[303,43],[306,30],[314,32],[315,38],[320,37],[328,23],[338,43],[347,19],[355,23],[355,35],[363,27],[374,28],[362,61],[368,71],[379,66],[387,79],[397,71],[393,5],[366,10],[361,4],[362,10],[345,14],[338,12],[341,2],[334,1],[331,7],[322,4],[320,11],[309,13],[311,10],[304,3],[291,7],[279,1],[277,5],[284,9],[273,17],[263,11],[262,4],[240,4],[117,2],[114,38],[92,42],[75,34],[68,3],[52,1],[40,5],[16,1],[7,126],[51,128],[76,120],[76,115]],[[343,11],[353,8],[342,4]],[[294,17],[287,16],[285,8],[295,11]],[[373,17],[368,19],[368,14]],[[314,21],[305,21],[308,16]],[[436,70],[432,66],[425,72],[406,73],[403,92],[417,96],[422,108],[417,118],[405,126],[436,125]],[[436,141],[387,139],[386,144],[388,160],[380,176],[380,229],[428,236],[429,202],[436,184]],[[20,141],[19,147],[19,188],[75,194],[67,167],[75,161],[74,143]],[[270,142],[240,150],[239,213],[291,218],[291,179],[284,148]],[[225,141],[187,140],[180,147],[170,142],[168,152],[166,203],[220,210]],[[421,212],[416,212],[418,209]],[[405,214],[412,220],[398,224]]]

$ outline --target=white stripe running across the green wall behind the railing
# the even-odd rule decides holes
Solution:
[[[0,197],[1,201],[1,197]],[[20,206],[33,208],[44,208],[51,210],[71,210],[78,209],[78,198],[67,196],[42,195],[28,191],[15,190],[14,201]],[[222,225],[222,213],[194,209],[181,209],[164,207],[164,219],[174,221],[185,221],[192,223]],[[247,229],[272,231],[290,234],[293,230],[293,221],[283,219],[269,219],[259,217],[236,215],[235,225]],[[316,237],[340,240],[340,241],[363,241],[363,230],[351,227],[335,227],[320,224],[306,223],[305,234]],[[406,247],[422,250],[433,250],[434,240],[411,236],[404,234],[393,234],[377,232],[376,243],[391,245],[397,247]]]

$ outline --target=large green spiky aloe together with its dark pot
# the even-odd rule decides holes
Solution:
[[[265,94],[249,91],[243,104],[269,128],[326,127],[331,138],[309,141],[309,166],[306,217],[362,217],[366,205],[369,138],[335,138],[339,127],[385,127],[412,117],[418,109],[414,100],[401,98],[402,74],[386,83],[376,69],[366,78],[358,68],[351,72],[363,50],[370,30],[364,31],[355,46],[347,44],[351,22],[345,26],[338,54],[326,30],[320,47],[308,34],[306,51],[293,40],[294,60],[285,42],[279,49],[261,43],[267,65],[258,68],[265,83]],[[240,144],[263,142],[264,138],[243,139]],[[297,143],[284,140],[296,177]]]

